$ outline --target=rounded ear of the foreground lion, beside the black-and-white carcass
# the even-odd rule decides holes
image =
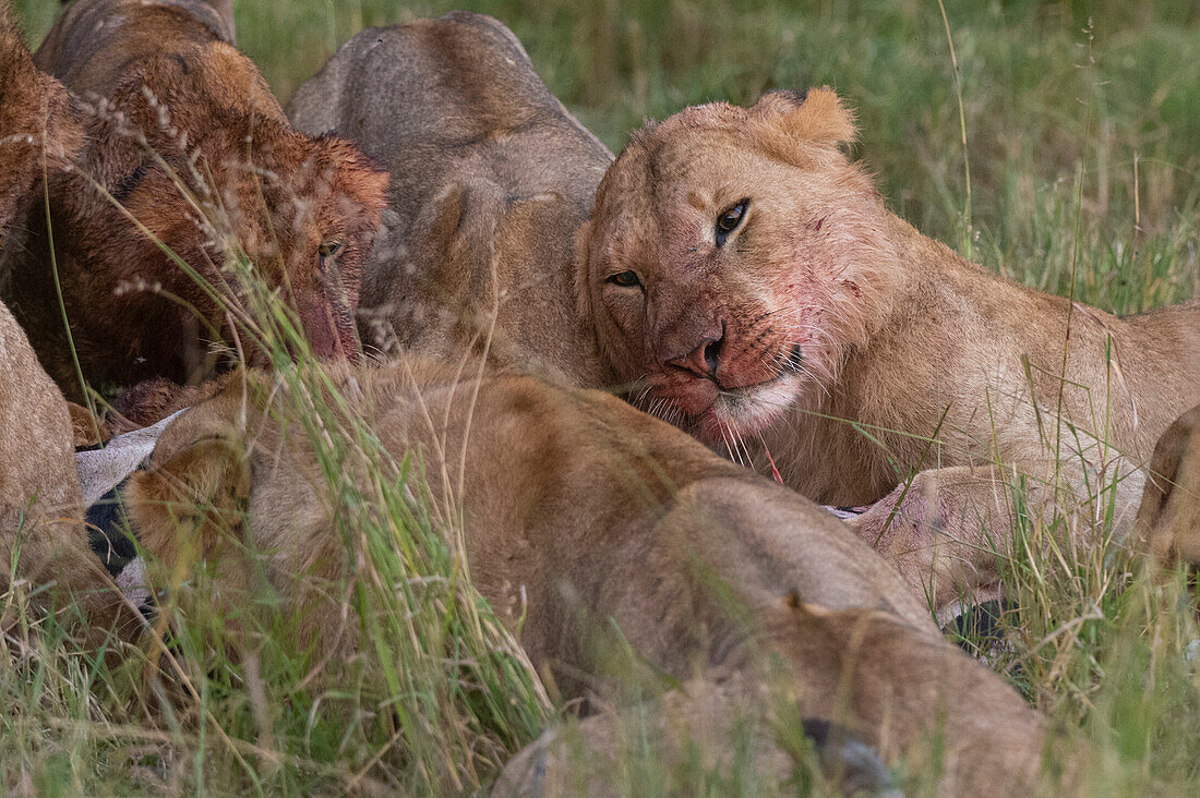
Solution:
[[[130,479],[125,503],[142,545],[161,562],[208,557],[241,526],[250,462],[228,438],[206,438]]]

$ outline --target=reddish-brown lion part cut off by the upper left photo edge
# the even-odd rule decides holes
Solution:
[[[83,144],[79,109],[66,88],[34,65],[25,35],[0,4],[0,240],[38,197],[44,172],[64,168]]]

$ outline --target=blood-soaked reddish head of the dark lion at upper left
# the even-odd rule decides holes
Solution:
[[[354,359],[354,311],[386,175],[334,137],[307,139],[269,125],[259,125],[254,134],[253,150],[221,152],[203,164],[212,175],[212,193],[209,202],[202,200],[200,212],[191,192],[161,168],[152,168],[125,208],[145,224],[146,245],[163,242],[211,282],[223,302],[250,305],[245,294],[251,277],[235,265],[250,264],[251,274],[295,311],[317,356]],[[170,256],[144,248],[143,268],[156,259],[169,266]],[[187,275],[164,271],[176,275],[185,296],[196,295],[196,306],[215,305]],[[245,336],[242,341],[245,347]],[[252,347],[247,354],[254,361],[259,353]]]

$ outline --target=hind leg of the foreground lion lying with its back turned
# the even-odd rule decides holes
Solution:
[[[889,612],[785,600],[762,614],[804,716],[851,730],[889,761],[931,766],[943,774],[938,794],[1025,794],[1044,746],[1061,744],[992,672]],[[1079,774],[1068,767],[1061,776],[1069,785]]]

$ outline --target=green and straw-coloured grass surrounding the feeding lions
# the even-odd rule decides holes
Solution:
[[[14,6],[34,41],[58,12],[54,0]],[[892,208],[986,268],[1121,313],[1180,301],[1200,287],[1194,2],[950,0],[944,18],[940,4],[917,0],[462,6],[508,23],[551,89],[613,149],[647,115],[708,100],[748,103],[774,86],[830,84],[857,109],[857,151]],[[240,46],[281,100],[360,28],[451,7],[235,2]],[[275,318],[274,308],[258,310]],[[268,341],[290,336],[287,319],[276,320],[282,326],[264,331]],[[336,398],[283,360],[289,395],[308,403],[298,418],[343,424]],[[316,427],[301,432],[328,439]],[[228,631],[211,613],[169,607],[188,654],[182,661],[203,665],[158,686],[187,695],[158,712],[155,688],[139,678],[142,662],[110,667],[82,655],[52,620],[22,613],[17,590],[5,608],[24,623],[0,640],[0,701],[8,708],[0,714],[0,790],[472,792],[535,736],[552,709],[490,610],[456,578],[452,546],[436,542],[420,503],[397,503],[410,474],[380,457],[368,431],[344,432],[355,456],[374,463],[371,479],[353,488],[338,479],[344,450],[318,446],[318,460],[348,509],[347,550],[361,554],[355,562],[364,569],[349,583],[365,590],[355,611],[364,623],[373,619],[373,646],[344,664],[340,688],[305,689],[313,662],[288,644],[290,622],[271,608],[270,595],[254,614],[264,624],[260,644],[240,658],[214,656],[221,648],[212,641]],[[1019,487],[1014,503],[1020,508]],[[1015,554],[1006,559],[1019,608],[1002,620],[1009,647],[997,670],[1064,728],[1096,743],[1090,792],[1200,792],[1200,677],[1183,656],[1200,631],[1184,575],[1146,575],[1103,522],[1096,530],[1103,545],[1075,548],[1055,533],[1086,520],[1022,518]],[[370,589],[406,575],[444,581],[401,594]],[[448,670],[448,647],[460,646],[449,659],[479,670]],[[484,655],[497,650],[506,654]],[[383,720],[383,706],[397,710]],[[764,788],[695,770],[667,774],[642,749],[629,757],[614,776],[626,792]]]

